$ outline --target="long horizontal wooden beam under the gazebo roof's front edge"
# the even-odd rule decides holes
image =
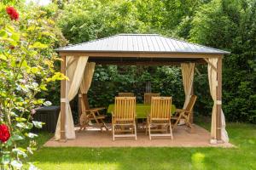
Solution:
[[[131,53],[131,52],[60,52],[67,56],[90,56],[90,57],[131,57],[131,58],[217,58],[222,54],[193,54],[193,53]]]

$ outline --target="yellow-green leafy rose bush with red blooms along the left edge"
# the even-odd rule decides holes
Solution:
[[[9,5],[18,8],[19,20],[9,19]],[[43,125],[32,122],[32,114],[38,106],[50,105],[37,95],[47,91],[49,82],[66,78],[54,68],[61,31],[44,10],[22,3],[0,3],[0,17],[0,124],[10,132],[9,140],[0,144],[0,166],[21,169],[22,161],[36,149],[38,135],[30,130]]]

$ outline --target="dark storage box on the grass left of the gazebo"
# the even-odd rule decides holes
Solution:
[[[33,116],[33,121],[44,122],[45,124],[42,128],[34,127],[32,131],[55,133],[61,107],[58,105],[44,106],[38,108],[36,111],[36,114]]]

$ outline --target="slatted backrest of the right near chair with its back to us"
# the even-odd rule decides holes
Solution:
[[[150,118],[152,120],[170,120],[172,113],[172,97],[152,97]]]

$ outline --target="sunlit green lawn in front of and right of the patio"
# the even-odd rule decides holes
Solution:
[[[206,126],[204,124],[204,126]],[[44,170],[256,169],[256,126],[228,123],[236,148],[40,148],[30,161]],[[40,139],[40,144],[47,138]],[[49,135],[46,135],[47,137]]]

